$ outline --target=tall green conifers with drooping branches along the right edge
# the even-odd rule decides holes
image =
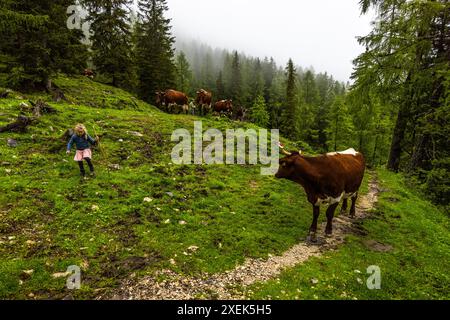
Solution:
[[[388,168],[415,175],[435,200],[448,203],[449,3],[361,1],[363,13],[370,7],[377,24],[360,39],[367,50],[355,60],[353,76],[354,102],[372,115],[360,132],[386,132],[389,126],[378,124],[391,115]]]

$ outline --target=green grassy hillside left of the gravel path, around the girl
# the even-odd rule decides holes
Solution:
[[[279,254],[306,236],[311,209],[298,186],[261,176],[258,166],[171,164],[172,131],[192,131],[199,118],[164,114],[85,78],[56,83],[68,102],[17,92],[0,100],[0,125],[28,99],[45,99],[58,110],[26,133],[0,134],[0,189],[6,191],[0,193],[0,298],[92,298],[133,272],[161,268],[221,272],[246,257]],[[201,120],[204,129],[242,126]],[[62,139],[78,122],[101,137],[104,151],[94,150],[97,178],[87,182],[80,182]],[[18,147],[8,147],[8,138]],[[199,249],[185,255],[191,245]],[[72,264],[82,267],[82,290],[69,292],[65,278],[52,274]]]

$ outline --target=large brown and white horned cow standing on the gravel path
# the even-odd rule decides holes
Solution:
[[[365,160],[360,152],[348,149],[317,157],[307,157],[301,152],[287,152],[280,159],[276,178],[283,178],[300,184],[305,189],[308,201],[313,206],[313,221],[310,227],[310,240],[315,242],[317,219],[320,205],[328,205],[325,234],[330,236],[333,229],[334,211],[343,199],[341,211],[347,210],[347,199],[351,198],[350,216],[355,216],[355,203],[358,190],[364,177]]]

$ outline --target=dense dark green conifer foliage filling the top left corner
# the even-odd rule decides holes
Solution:
[[[67,28],[70,0],[0,2],[0,81],[24,89],[51,89],[58,72],[81,73],[87,48],[80,30]]]

